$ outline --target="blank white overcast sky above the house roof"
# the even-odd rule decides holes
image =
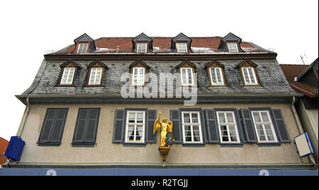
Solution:
[[[278,53],[280,64],[318,57],[318,0],[1,1],[0,137],[16,135],[25,106],[14,95],[32,84],[46,50],[91,38],[225,36]],[[35,131],[38,133],[38,131]]]

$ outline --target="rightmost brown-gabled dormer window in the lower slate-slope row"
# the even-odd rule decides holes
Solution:
[[[256,64],[249,60],[245,60],[239,67],[244,80],[244,86],[260,86],[256,72]]]

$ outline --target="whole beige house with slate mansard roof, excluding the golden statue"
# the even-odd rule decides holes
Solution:
[[[11,167],[313,169],[276,53],[225,37],[99,38],[45,55],[17,135]],[[173,123],[159,155],[155,120]],[[162,120],[160,118],[160,120]]]

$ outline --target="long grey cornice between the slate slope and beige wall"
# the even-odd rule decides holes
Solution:
[[[198,95],[197,104],[252,104],[252,103],[291,103],[292,97],[303,94],[231,94],[231,95]],[[30,104],[184,104],[184,98],[130,98],[103,95],[16,95],[23,104],[29,98]]]

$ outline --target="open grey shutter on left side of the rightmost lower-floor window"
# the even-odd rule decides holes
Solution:
[[[240,109],[242,123],[244,124],[246,140],[248,143],[257,143],[257,135],[254,130],[254,123],[249,109]]]

